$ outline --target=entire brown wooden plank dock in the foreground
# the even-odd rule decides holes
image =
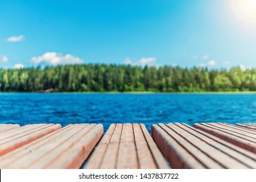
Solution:
[[[256,168],[256,123],[0,124],[0,168]]]

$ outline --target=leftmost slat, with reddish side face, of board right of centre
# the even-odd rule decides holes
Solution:
[[[164,124],[152,125],[152,136],[172,168],[206,168],[188,152]]]

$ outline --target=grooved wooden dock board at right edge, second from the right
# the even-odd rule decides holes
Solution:
[[[228,123],[196,123],[193,125],[240,148],[256,153],[256,130]]]

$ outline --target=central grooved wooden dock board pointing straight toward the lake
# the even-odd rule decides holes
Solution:
[[[85,168],[169,168],[144,124],[112,124]]]

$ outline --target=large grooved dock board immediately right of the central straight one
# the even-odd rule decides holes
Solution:
[[[172,168],[256,168],[254,153],[184,123],[152,125],[152,136]]]

